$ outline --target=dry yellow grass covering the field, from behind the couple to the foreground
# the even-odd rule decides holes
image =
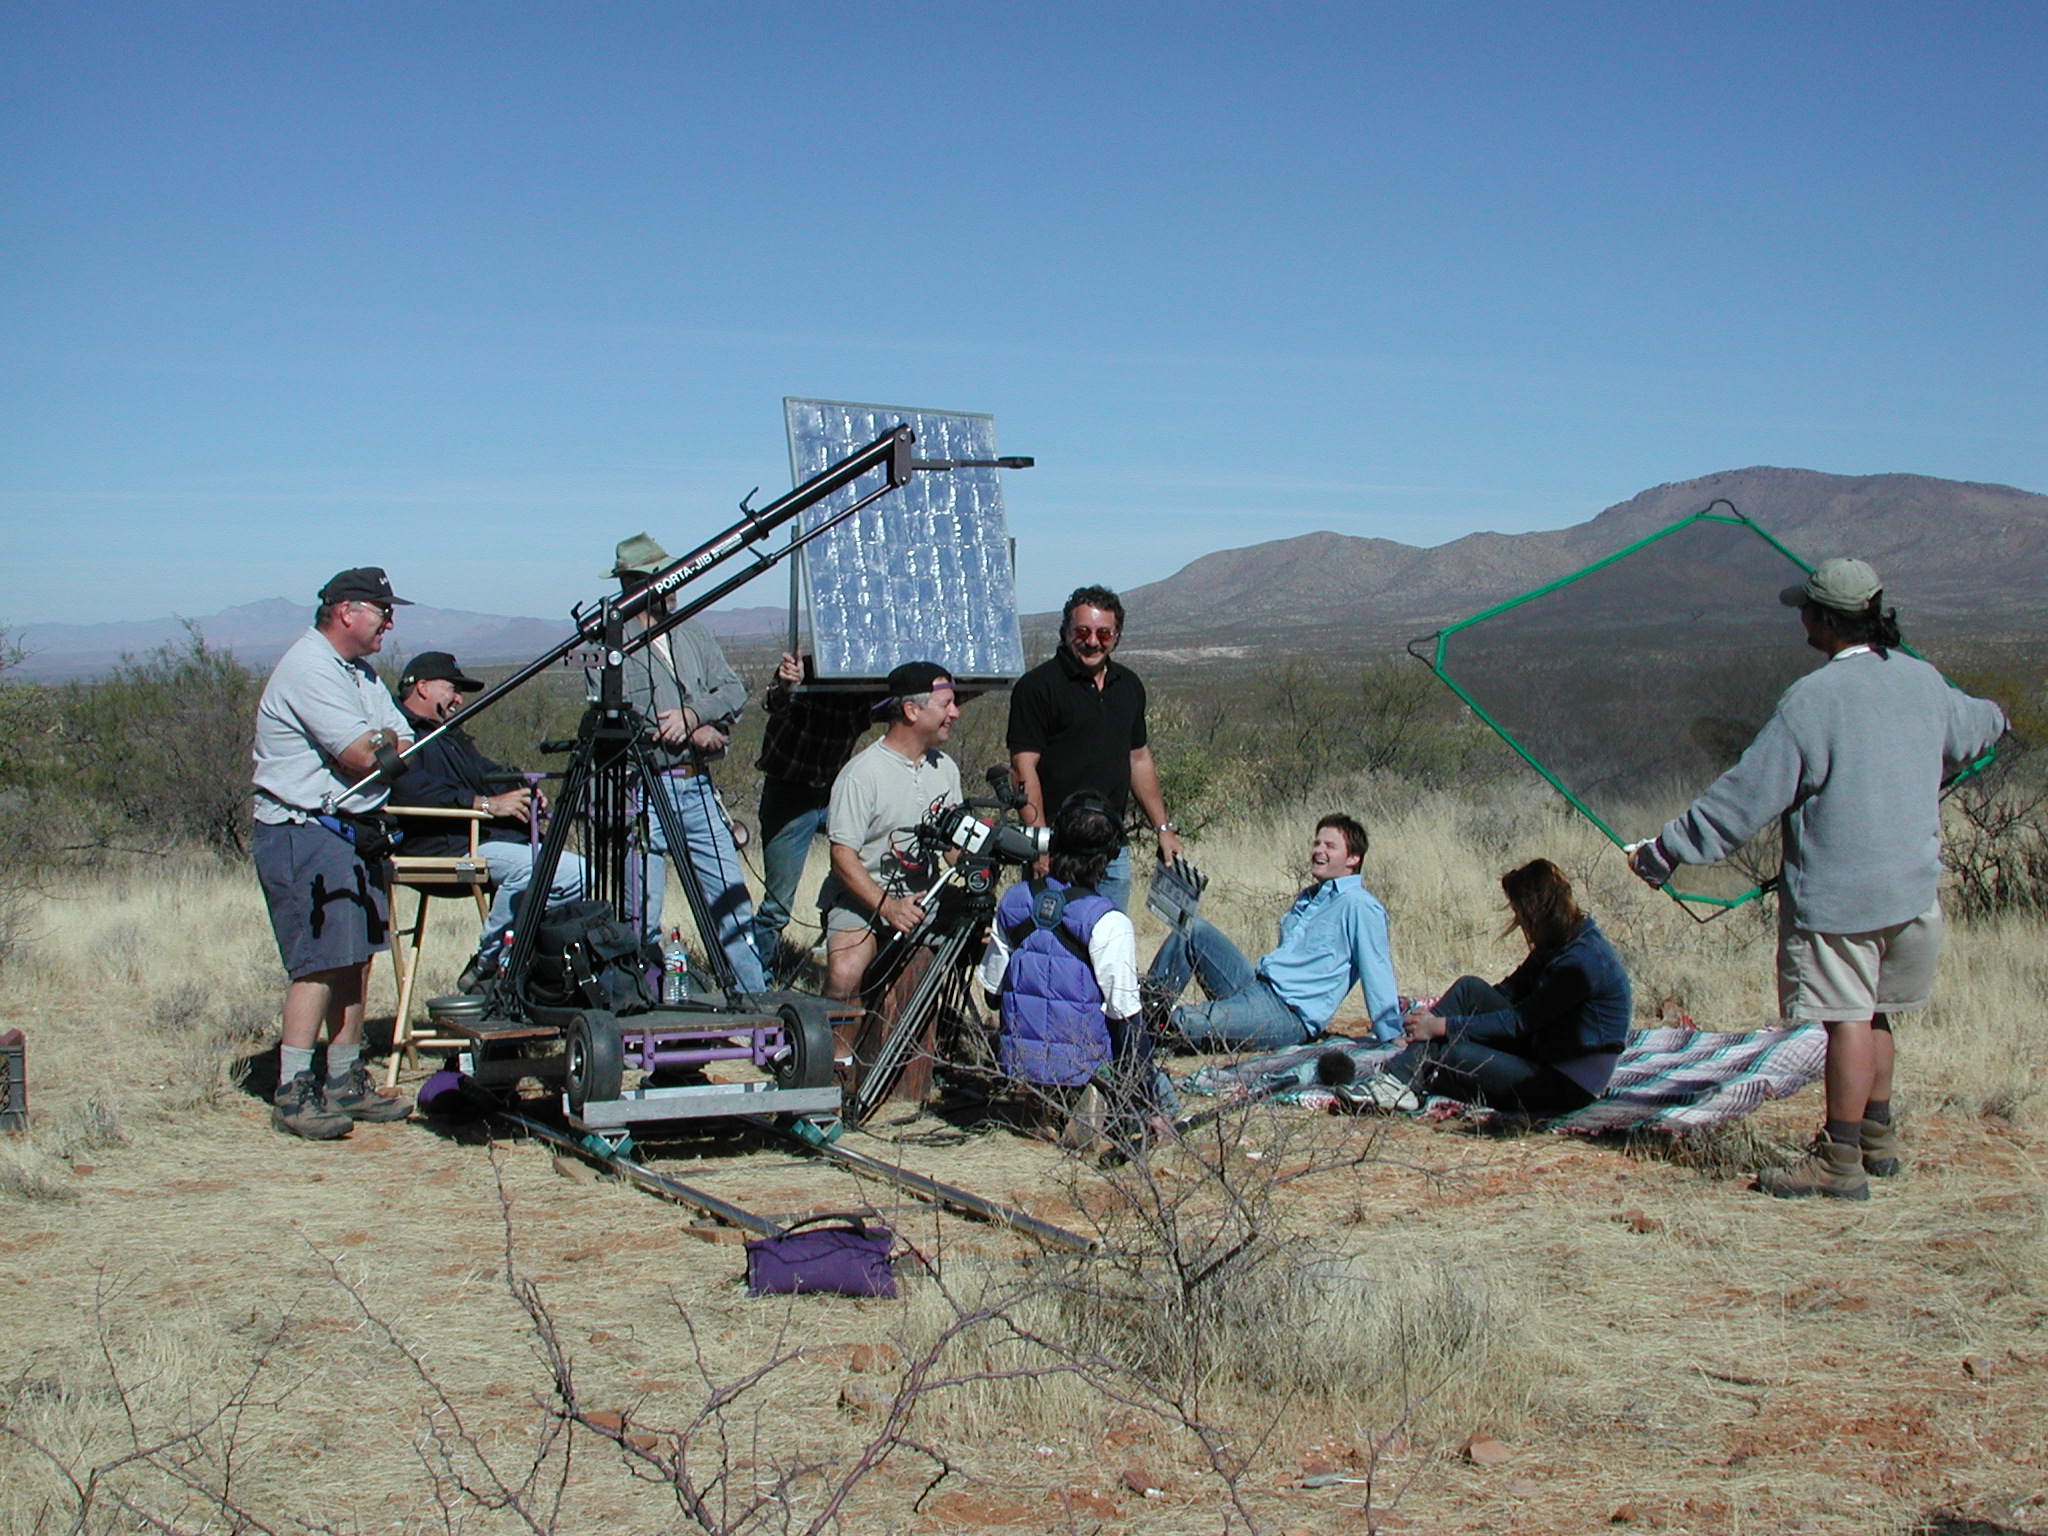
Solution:
[[[1483,813],[1356,799],[1403,989],[1509,969],[1497,877],[1546,854],[1622,946],[1645,1010],[1669,999],[1708,1028],[1769,1018],[1759,915],[1690,922],[1540,797]],[[1214,874],[1210,913],[1251,952],[1298,883],[1311,821],[1194,850]],[[913,1511],[930,1462],[899,1450],[854,1491],[846,1530],[1225,1526],[1214,1446],[1128,1391],[1135,1360],[1194,1337],[1171,1307],[1114,1305],[1137,1270],[1020,1264],[1028,1245],[1008,1233],[741,1137],[655,1149],[678,1178],[758,1210],[874,1202],[940,1276],[911,1280],[903,1305],[748,1300],[735,1247],[690,1235],[670,1206],[557,1171],[532,1145],[424,1122],[326,1147],[270,1133],[227,1071],[274,1038],[281,977],[252,879],[190,864],[90,883],[43,899],[35,928],[0,975],[0,1028],[29,1032],[35,1104],[29,1135],[0,1139],[0,1417],[76,1473],[131,1450],[129,1415],[147,1440],[242,1401],[190,1442],[195,1483],[229,1485],[279,1528],[444,1528],[430,1432],[461,1415],[475,1450],[455,1460],[477,1477],[479,1458],[530,1462],[543,1423],[549,1378],[504,1272],[508,1212],[516,1272],[555,1317],[586,1409],[676,1430],[702,1407],[698,1362],[735,1380],[793,1356],[733,1409],[723,1452],[698,1446],[700,1466],[723,1456],[739,1485],[795,1458],[848,1466],[879,1425],[864,1399],[887,1399],[903,1362],[938,1350],[936,1374],[956,1380],[915,1403],[909,1432],[958,1475]],[[449,983],[471,936],[451,903],[430,985]],[[1769,1202],[1667,1157],[1552,1137],[1401,1122],[1374,1141],[1370,1124],[1288,1110],[1231,1122],[1200,1149],[1210,1171],[1165,1157],[1155,1178],[1192,1192],[1196,1239],[1219,1190],[1262,1200],[1274,1257],[1208,1311],[1190,1305],[1217,1348],[1167,1374],[1229,1434],[1243,1507],[1268,1530],[1364,1530],[1360,1485],[1298,1481],[1358,1477],[1374,1454],[1378,1497],[1405,1489],[1409,1530],[1569,1532],[1622,1509],[1665,1530],[1870,1532],[1937,1505],[2040,1524],[2044,983],[2040,924],[1952,930],[1937,1004],[1901,1032],[1911,1176],[1858,1208]],[[1757,1133],[1790,1145],[1815,1114],[1808,1094]],[[1098,1176],[1036,1143],[860,1145],[1069,1225],[1133,1231]],[[1001,1317],[977,1313],[1006,1296]],[[963,1315],[973,1325],[948,1337]],[[883,1368],[852,1370],[854,1346],[879,1343],[897,1364],[883,1354]],[[991,1374],[1047,1366],[1065,1370]],[[1505,1440],[1513,1460],[1462,1460],[1473,1432]],[[1126,1470],[1161,1493],[1122,1487]],[[170,1481],[152,1477],[109,1475],[166,1509]],[[827,1483],[797,1485],[805,1518]],[[180,1528],[205,1528],[197,1495],[178,1497]],[[49,1458],[0,1440],[0,1530],[63,1530],[63,1499]],[[211,1522],[229,1524],[217,1509]],[[475,1505],[457,1524],[522,1528]],[[692,1528],[664,1487],[580,1430],[557,1528],[598,1526]]]

